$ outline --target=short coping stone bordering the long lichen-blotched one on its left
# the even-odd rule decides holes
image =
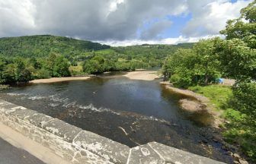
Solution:
[[[53,119],[52,121],[48,121],[43,125],[43,128],[46,131],[50,131],[53,134],[58,135],[59,137],[63,137],[66,141],[72,143],[75,136],[82,131],[81,128],[77,128],[73,125],[69,125],[65,121],[61,121],[59,119]]]

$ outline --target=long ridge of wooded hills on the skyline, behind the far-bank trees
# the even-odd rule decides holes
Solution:
[[[0,38],[0,56],[8,58],[43,58],[51,53],[64,55],[70,61],[84,61],[94,55],[117,55],[121,58],[145,57],[164,59],[177,49],[190,49],[194,43],[179,43],[178,45],[149,45],[110,47],[81,39],[64,36],[37,35]]]

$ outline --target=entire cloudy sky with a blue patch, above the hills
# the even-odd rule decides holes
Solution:
[[[252,0],[0,0],[0,37],[52,34],[111,46],[219,36]]]

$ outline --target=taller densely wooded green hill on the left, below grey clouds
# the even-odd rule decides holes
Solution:
[[[0,38],[0,55],[24,58],[45,57],[50,53],[65,56],[80,55],[110,46],[64,36],[38,35]]]

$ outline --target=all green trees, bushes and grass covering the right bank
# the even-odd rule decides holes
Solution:
[[[223,137],[256,162],[256,2],[227,22],[226,39],[201,40],[193,49],[179,49],[165,60],[163,74],[174,87],[210,98],[224,109]],[[210,85],[218,77],[233,78],[233,87]]]

